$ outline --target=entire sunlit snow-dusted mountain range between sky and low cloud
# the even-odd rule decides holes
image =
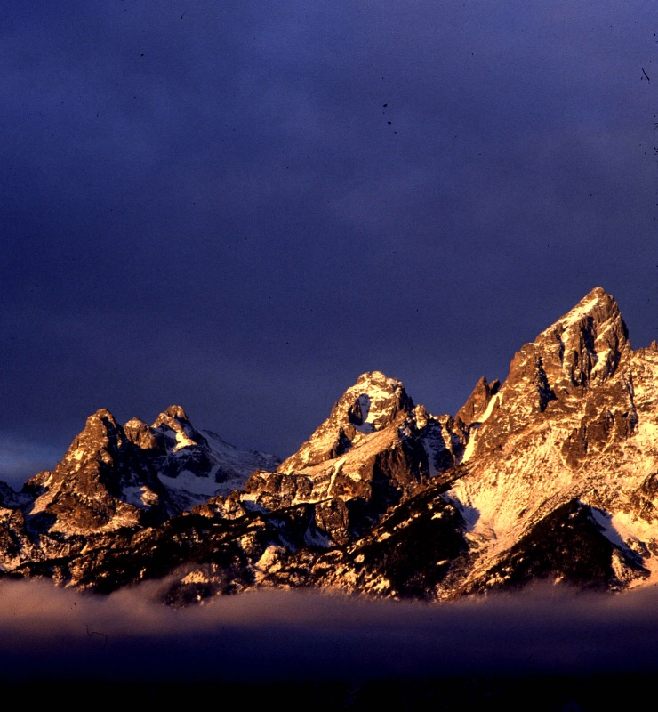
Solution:
[[[311,424],[312,425],[312,424]],[[600,287],[483,376],[454,417],[365,373],[277,457],[197,430],[87,419],[52,472],[0,483],[0,570],[173,606],[254,587],[446,601],[658,581],[658,345]]]

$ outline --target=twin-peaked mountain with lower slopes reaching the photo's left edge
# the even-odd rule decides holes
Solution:
[[[52,472],[37,473],[21,493],[0,491],[0,565],[66,579],[66,562],[83,550],[116,546],[115,536],[162,524],[279,462],[198,432],[180,406],[153,425],[132,418],[123,427],[100,409]]]

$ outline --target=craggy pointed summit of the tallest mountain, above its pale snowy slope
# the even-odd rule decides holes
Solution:
[[[576,414],[584,417],[584,409],[595,394],[601,392],[603,398],[612,393],[614,384],[627,393],[618,408],[624,418],[632,420],[632,387],[630,376],[624,376],[631,356],[628,329],[619,306],[602,287],[595,287],[533,342],[518,350],[498,392],[487,392],[483,381],[477,384],[460,411],[462,420],[470,426],[464,457],[499,451],[510,433],[529,425],[543,427],[549,419],[558,418],[564,421],[564,427],[569,423],[570,429],[578,430],[581,423],[574,420]]]

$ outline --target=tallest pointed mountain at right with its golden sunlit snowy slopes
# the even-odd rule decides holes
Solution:
[[[619,573],[615,586],[646,577],[644,560],[632,553],[644,546],[630,535],[633,527],[617,536],[601,522],[627,507],[624,500],[658,464],[648,434],[656,401],[646,397],[658,373],[647,353],[654,352],[632,351],[617,304],[597,288],[514,356],[500,391],[470,425],[469,473],[449,494],[470,521],[477,565],[467,588],[515,579],[516,567],[500,562],[518,541],[539,536],[542,522],[569,502],[604,513],[592,509],[589,516],[615,547],[608,556]],[[571,555],[566,548],[564,561]],[[558,564],[554,569],[563,576]],[[606,581],[613,586],[613,578]]]

